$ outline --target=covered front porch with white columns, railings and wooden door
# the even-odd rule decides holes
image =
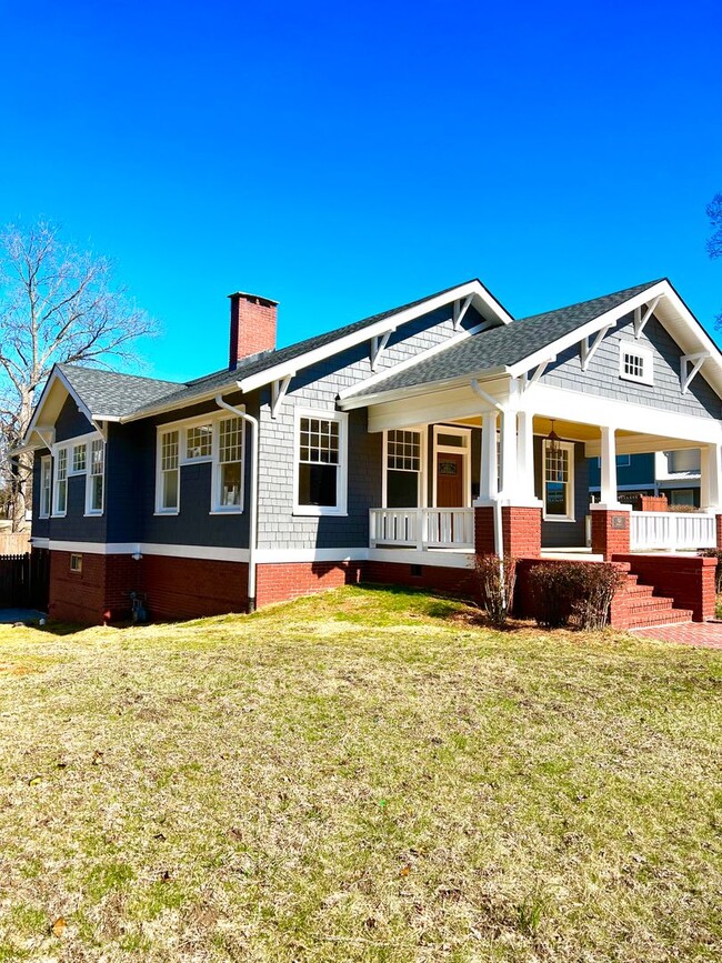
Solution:
[[[370,510],[370,548],[407,550],[414,556],[494,551],[601,560],[614,553],[716,546],[720,447],[710,439],[718,427],[674,421],[671,415],[665,427],[685,431],[661,434],[591,424],[555,417],[553,410],[491,410],[384,429],[383,504]],[[620,500],[620,455],[693,449],[701,461],[699,509],[649,510],[659,508],[649,500],[636,510]],[[594,494],[590,460],[601,472],[601,492]],[[484,538],[490,525],[480,524],[480,514],[491,515],[491,544]],[[504,524],[505,514],[517,516],[523,536]],[[534,518],[538,536],[530,531]]]

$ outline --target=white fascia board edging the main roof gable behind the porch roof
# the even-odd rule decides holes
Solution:
[[[438,294],[435,298],[429,298],[413,308],[405,308],[394,314],[388,314],[380,321],[361,328],[359,331],[353,331],[351,334],[338,338],[335,341],[330,341],[321,348],[307,351],[305,354],[299,354],[298,358],[293,358],[290,361],[267,368],[265,371],[251,374],[249,378],[241,378],[238,382],[239,388],[243,392],[255,391],[255,389],[263,388],[272,381],[278,381],[278,379],[284,378],[287,374],[295,373],[301,368],[309,368],[311,364],[324,361],[327,358],[339,354],[348,348],[353,348],[357,344],[369,341],[371,338],[383,334],[390,328],[399,328],[408,321],[414,321],[423,314],[429,314],[431,311],[443,308],[444,304],[458,301],[469,294],[473,295],[474,307],[480,305],[491,310],[502,324],[509,324],[512,321],[512,318],[479,281],[469,281],[467,284],[460,284],[458,288],[452,288],[451,291]]]

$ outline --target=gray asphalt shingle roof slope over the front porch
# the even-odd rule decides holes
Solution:
[[[360,388],[352,393],[352,397],[363,398],[401,388],[431,384],[515,364],[658,283],[659,281],[649,281],[646,284],[626,288],[624,291],[604,294],[591,301],[581,301],[579,304],[545,311],[543,314],[532,314],[500,328],[481,331],[425,361],[419,361],[404,371],[397,374],[392,372],[388,378],[377,381],[369,388]]]

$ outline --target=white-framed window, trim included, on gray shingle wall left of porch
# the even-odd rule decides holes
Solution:
[[[294,512],[342,515],[347,509],[347,415],[298,411]]]

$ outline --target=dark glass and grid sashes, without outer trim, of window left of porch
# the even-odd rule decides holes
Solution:
[[[299,505],[339,504],[340,425],[323,418],[301,418]]]

